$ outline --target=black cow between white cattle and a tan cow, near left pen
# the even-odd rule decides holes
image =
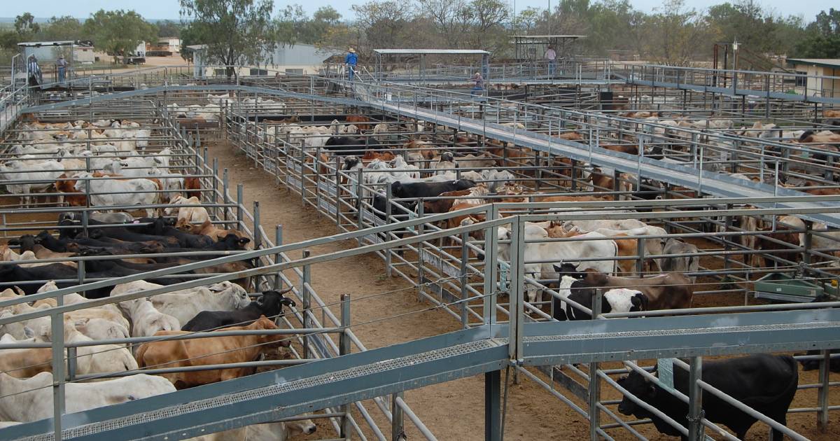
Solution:
[[[258,300],[236,311],[198,312],[196,317],[181,327],[181,331],[209,331],[228,326],[247,326],[254,323],[260,316],[275,318],[283,312],[283,305],[296,306],[293,300],[283,297],[283,294],[288,291],[291,291],[291,288],[284,291],[263,291],[262,297]]]

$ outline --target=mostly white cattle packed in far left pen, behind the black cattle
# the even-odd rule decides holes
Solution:
[[[197,178],[174,170],[172,150],[150,145],[151,129],[133,121],[30,121],[18,129],[19,144],[4,152],[0,179],[9,181],[7,192],[21,197],[24,207],[39,192],[57,192],[58,202],[71,207],[88,199],[92,207],[119,207],[165,202],[182,191],[197,196],[201,187]]]

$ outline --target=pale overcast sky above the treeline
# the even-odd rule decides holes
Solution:
[[[708,8],[724,0],[686,0],[686,3],[693,8]],[[510,0],[515,3],[517,11],[522,8],[535,7],[546,8],[549,0]],[[558,0],[552,0],[551,4],[556,5]],[[0,15],[14,17],[21,13],[29,12],[38,18],[49,18],[52,16],[72,15],[77,18],[87,18],[91,13],[99,9],[134,9],[145,18],[178,18],[177,0],[86,0],[76,2],[72,0],[39,0],[34,3],[13,2],[2,0],[3,8],[0,8]],[[332,5],[339,10],[344,18],[352,18],[350,5],[354,3],[365,3],[365,0],[290,0],[275,1],[276,8],[283,8],[289,3],[302,4],[309,13],[326,5]],[[643,11],[650,11],[662,4],[662,0],[630,0],[634,7]],[[837,7],[837,2],[832,0],[759,0],[759,3],[774,9],[784,15],[803,15],[807,21],[812,20],[817,13],[823,9]]]

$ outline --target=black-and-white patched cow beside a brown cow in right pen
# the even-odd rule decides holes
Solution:
[[[559,268],[555,268],[555,270],[561,271]],[[571,276],[560,278],[557,293],[562,298],[568,298],[590,309],[592,309],[593,298],[596,294],[593,286],[587,286],[584,281],[579,281]],[[557,297],[552,299],[552,303],[554,304],[554,318],[561,322],[564,320],[591,320],[592,318],[590,314],[571,307]],[[642,291],[627,288],[613,288],[606,291],[601,300],[601,313],[604,314],[607,312],[646,311],[647,309],[648,297]]]

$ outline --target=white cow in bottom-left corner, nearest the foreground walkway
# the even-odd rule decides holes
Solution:
[[[0,419],[20,422],[53,417],[53,376],[48,372],[25,380],[0,373]],[[136,374],[92,383],[68,382],[66,413],[113,406],[176,391],[165,378]]]

